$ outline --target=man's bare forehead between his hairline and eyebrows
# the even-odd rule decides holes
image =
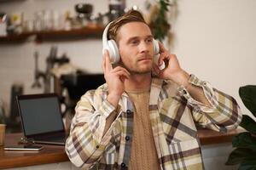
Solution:
[[[128,40],[131,37],[147,37],[152,33],[148,25],[143,22],[129,22],[119,28],[117,37],[119,40]]]

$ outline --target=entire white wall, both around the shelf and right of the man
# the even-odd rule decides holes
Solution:
[[[25,12],[32,19],[35,11],[55,9],[73,10],[79,0],[23,0],[0,3],[0,11],[13,14]],[[108,1],[87,0],[93,3],[95,14],[108,10]],[[126,0],[126,6],[144,1]],[[171,52],[177,54],[182,67],[207,80],[219,90],[234,96],[244,113],[238,88],[256,84],[256,1],[253,0],[177,0],[177,20],[172,21],[174,39]],[[41,70],[52,42],[36,44],[0,44],[0,99],[10,100],[10,86],[23,82],[25,93],[42,90],[31,88],[33,82],[33,53],[38,49]],[[67,52],[74,65],[90,72],[102,72],[102,42],[100,39],[55,42],[59,54]]]

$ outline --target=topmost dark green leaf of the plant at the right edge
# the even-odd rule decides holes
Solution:
[[[256,117],[256,86],[247,85],[239,88],[239,95],[243,104]]]

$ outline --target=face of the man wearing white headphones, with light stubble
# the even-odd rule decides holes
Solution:
[[[131,73],[151,72],[154,58],[153,36],[143,22],[121,26],[117,35],[121,63]]]

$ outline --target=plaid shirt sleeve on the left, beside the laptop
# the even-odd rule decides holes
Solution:
[[[65,150],[76,167],[93,167],[111,139],[113,124],[104,135],[103,131],[107,117],[115,108],[90,91],[81,97],[75,111]]]

